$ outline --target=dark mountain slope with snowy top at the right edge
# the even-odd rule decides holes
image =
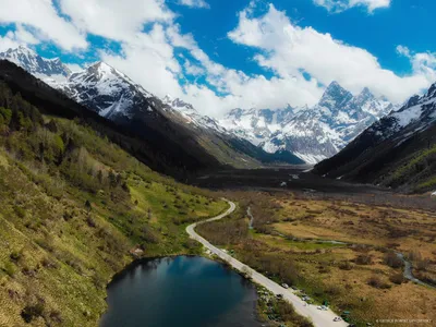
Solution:
[[[315,167],[319,174],[410,191],[436,185],[436,84]]]

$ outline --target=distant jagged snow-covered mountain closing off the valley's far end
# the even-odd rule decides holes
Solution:
[[[395,107],[368,88],[353,96],[332,82],[311,108],[234,109],[221,123],[268,153],[288,150],[308,164],[331,157]]]

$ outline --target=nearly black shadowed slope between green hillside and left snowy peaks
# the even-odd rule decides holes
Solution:
[[[144,124],[140,122],[133,126],[116,124],[96,112],[87,110],[63,93],[51,88],[7,60],[0,60],[0,80],[4,81],[14,92],[21,93],[23,98],[38,106],[45,113],[69,119],[78,117],[141,161],[160,172],[182,178],[189,171],[220,167],[218,160],[198,145],[196,147],[183,146],[181,143],[190,137],[187,131],[178,130],[177,125],[174,126],[169,119],[162,116],[160,116],[161,131],[155,129],[142,131]],[[175,142],[167,134],[174,138],[179,134],[180,137]]]

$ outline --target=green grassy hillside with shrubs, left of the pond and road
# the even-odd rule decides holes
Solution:
[[[130,249],[195,253],[187,221],[227,207],[153,172],[90,129],[55,121],[56,132],[38,125],[0,136],[0,326],[24,325],[24,308],[32,326],[95,326],[106,283],[132,261]],[[75,149],[63,149],[61,162],[40,162],[33,146],[40,132],[49,141],[68,134]],[[125,185],[108,186],[109,171]]]

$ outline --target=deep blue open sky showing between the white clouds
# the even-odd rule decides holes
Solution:
[[[169,7],[181,14],[178,21],[182,32],[193,33],[202,49],[209,56],[219,58],[227,66],[259,72],[256,64],[246,61],[246,57],[251,57],[253,51],[234,45],[226,37],[238,24],[235,13],[242,11],[249,2],[209,0],[210,10],[202,11],[180,8],[174,4],[175,1],[169,3]],[[399,74],[411,73],[411,64],[409,60],[398,56],[398,45],[405,45],[417,52],[436,52],[436,41],[432,41],[436,1],[397,0],[388,9],[378,9],[372,14],[364,7],[335,14],[307,0],[262,2],[274,3],[300,26],[312,26],[318,32],[330,33],[347,44],[367,49],[379,59],[383,66]]]

